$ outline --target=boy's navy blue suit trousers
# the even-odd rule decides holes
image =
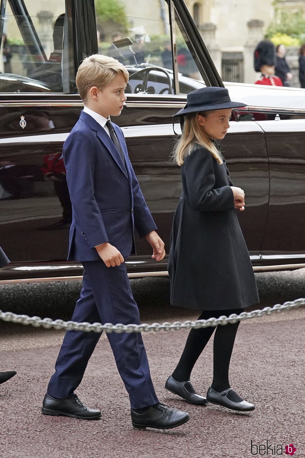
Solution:
[[[140,323],[125,264],[106,267],[102,260],[83,262],[84,278],[72,320],[76,322]],[[47,393],[68,398],[79,386],[99,333],[67,331]],[[151,380],[141,333],[107,334],[120,376],[129,394],[131,409],[158,403]],[[102,361],[101,361],[102,365]]]

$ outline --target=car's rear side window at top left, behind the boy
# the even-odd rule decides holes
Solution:
[[[0,92],[69,92],[65,0],[8,0],[0,21]]]

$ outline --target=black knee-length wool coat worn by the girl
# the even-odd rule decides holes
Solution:
[[[198,310],[258,304],[226,162],[218,164],[207,149],[196,146],[185,158],[181,177],[168,259],[171,304]]]

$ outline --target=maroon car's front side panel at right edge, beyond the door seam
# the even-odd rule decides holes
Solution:
[[[265,132],[270,168],[263,265],[304,267],[305,110],[277,110],[268,118],[258,121]]]

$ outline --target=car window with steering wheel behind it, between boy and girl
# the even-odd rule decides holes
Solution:
[[[95,16],[100,54],[123,63],[130,75],[126,93],[174,94],[173,49],[168,2],[105,2],[95,0]],[[176,27],[180,93],[202,86],[188,45]],[[200,82],[201,81],[201,82]]]

